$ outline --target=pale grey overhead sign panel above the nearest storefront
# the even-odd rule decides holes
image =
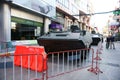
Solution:
[[[56,13],[55,0],[13,0],[12,2],[48,17],[53,17]]]

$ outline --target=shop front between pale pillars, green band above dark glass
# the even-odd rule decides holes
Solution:
[[[43,23],[12,17],[11,40],[35,40],[41,35]]]

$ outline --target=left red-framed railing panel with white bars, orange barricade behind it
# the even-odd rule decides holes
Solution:
[[[15,53],[0,54],[0,80],[45,80],[47,55],[40,50],[17,46]]]

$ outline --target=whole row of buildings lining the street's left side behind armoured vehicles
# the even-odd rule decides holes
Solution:
[[[0,42],[37,43],[38,36],[50,31],[50,24],[64,30],[78,25],[81,30],[90,31],[90,16],[85,15],[90,13],[89,0],[1,0]]]

